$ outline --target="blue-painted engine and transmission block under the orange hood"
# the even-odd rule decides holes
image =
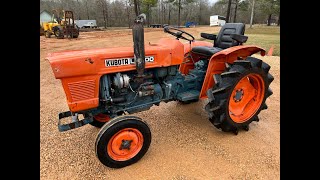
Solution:
[[[148,110],[161,101],[197,101],[207,66],[208,60],[199,60],[187,75],[179,72],[179,66],[146,69],[143,82],[136,80],[136,71],[104,75],[99,108],[115,116]]]

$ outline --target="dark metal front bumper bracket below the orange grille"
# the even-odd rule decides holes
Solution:
[[[70,129],[75,129],[75,128],[81,127],[83,125],[86,125],[88,123],[91,123],[93,121],[92,116],[84,118],[81,121],[79,121],[78,119],[74,120],[77,117],[73,117],[72,118],[73,119],[72,123],[61,124],[61,119],[66,118],[66,117],[70,117],[70,116],[72,116],[72,113],[70,111],[59,113],[58,129],[59,129],[60,132],[68,131]]]

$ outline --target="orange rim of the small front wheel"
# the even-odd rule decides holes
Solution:
[[[107,152],[113,160],[126,161],[136,156],[142,145],[142,133],[135,128],[125,128],[111,137]]]

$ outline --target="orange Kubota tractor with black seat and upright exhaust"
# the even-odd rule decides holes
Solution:
[[[244,24],[227,23],[218,35],[201,33],[213,43],[195,41],[191,34],[165,26],[164,32],[175,38],[145,45],[144,20],[143,15],[135,19],[133,47],[47,57],[70,110],[59,114],[59,131],[85,124],[101,128],[96,156],[108,167],[121,168],[142,158],[151,142],[147,123],[129,114],[160,102],[206,99],[210,122],[224,132],[248,131],[252,121],[259,121],[258,114],[267,109],[265,101],[272,94],[273,76],[268,64],[251,56],[264,56],[265,50],[243,45],[248,39]],[[61,123],[67,117],[69,123]]]

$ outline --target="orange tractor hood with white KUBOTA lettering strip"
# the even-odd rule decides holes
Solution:
[[[135,70],[133,47],[64,51],[48,54],[57,79],[84,75],[103,75]],[[164,38],[145,45],[146,68],[179,65],[184,45],[176,39]]]

